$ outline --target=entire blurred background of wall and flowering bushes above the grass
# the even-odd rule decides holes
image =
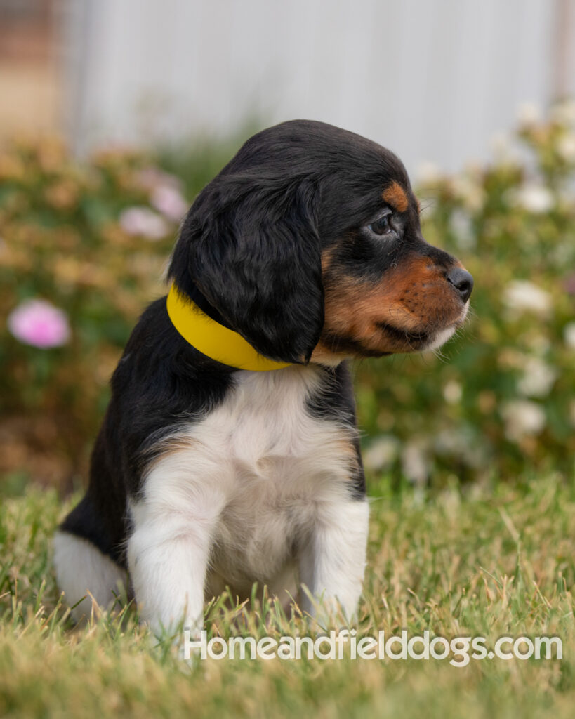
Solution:
[[[372,477],[572,479],[575,0],[0,0],[0,493],[86,481],[178,222],[295,117],[394,150],[475,276],[440,356],[356,369]]]

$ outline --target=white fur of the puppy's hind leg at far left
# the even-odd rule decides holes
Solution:
[[[125,570],[86,539],[57,531],[54,536],[54,564],[57,585],[65,592],[66,603],[74,607],[85,597],[72,610],[75,621],[91,615],[92,610],[98,607],[111,608],[116,601],[114,594],[125,594]],[[98,607],[93,607],[93,600]]]

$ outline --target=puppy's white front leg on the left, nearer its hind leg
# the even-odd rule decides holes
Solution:
[[[224,495],[211,482],[194,482],[189,465],[182,475],[155,482],[161,464],[147,480],[143,499],[131,506],[127,559],[134,596],[142,620],[157,635],[173,633],[181,623],[197,633]]]

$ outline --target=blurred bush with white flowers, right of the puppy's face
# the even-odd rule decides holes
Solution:
[[[532,114],[494,162],[418,189],[423,235],[474,275],[436,357],[366,362],[366,463],[414,482],[513,480],[575,463],[575,102]]]

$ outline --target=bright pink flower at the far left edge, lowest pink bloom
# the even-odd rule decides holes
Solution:
[[[8,329],[16,339],[34,347],[60,347],[70,338],[66,313],[45,300],[22,302],[8,316]]]

